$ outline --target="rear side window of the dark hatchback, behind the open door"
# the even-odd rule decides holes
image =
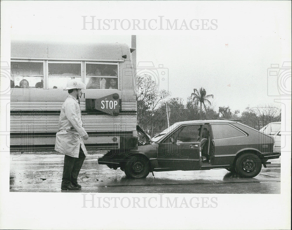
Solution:
[[[230,124],[212,124],[213,139],[246,136],[243,132]]]

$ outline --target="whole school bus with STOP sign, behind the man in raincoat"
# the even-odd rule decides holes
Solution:
[[[138,148],[137,103],[126,44],[11,42],[10,151],[53,151],[69,79],[80,98],[87,150]]]

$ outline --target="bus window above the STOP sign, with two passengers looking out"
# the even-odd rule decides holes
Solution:
[[[117,63],[85,63],[86,89],[118,89]]]

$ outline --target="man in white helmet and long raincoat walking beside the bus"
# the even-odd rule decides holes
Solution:
[[[62,105],[59,117],[59,132],[56,134],[55,150],[65,154],[62,177],[62,190],[77,190],[81,185],[77,177],[87,156],[83,140],[88,139],[88,134],[83,128],[79,97],[85,89],[85,84],[79,80],[71,79],[67,82],[69,95]],[[77,101],[78,99],[78,101]]]

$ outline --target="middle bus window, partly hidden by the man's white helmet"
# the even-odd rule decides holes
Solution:
[[[74,78],[81,80],[81,62],[48,62],[49,89],[64,89]]]

